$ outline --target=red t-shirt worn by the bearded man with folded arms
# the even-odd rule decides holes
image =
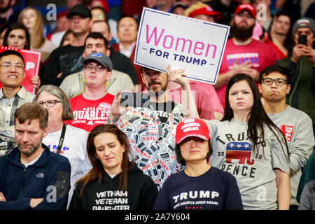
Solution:
[[[221,73],[230,71],[236,62],[242,64],[247,60],[251,60],[253,68],[260,72],[265,67],[276,63],[278,59],[280,59],[279,55],[267,43],[253,39],[248,45],[235,45],[232,38],[230,38],[226,43],[219,76],[221,76]],[[223,107],[225,107],[226,86],[224,85],[216,90]]]

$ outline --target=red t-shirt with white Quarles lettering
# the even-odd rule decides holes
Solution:
[[[87,132],[90,132],[97,125],[104,125],[111,112],[113,99],[114,96],[109,93],[96,100],[85,99],[83,94],[71,98],[74,120],[69,120],[67,123]]]

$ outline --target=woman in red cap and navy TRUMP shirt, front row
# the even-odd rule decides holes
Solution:
[[[212,148],[207,124],[195,118],[181,121],[175,141],[176,158],[186,169],[169,176],[153,209],[243,209],[235,177],[208,164]]]

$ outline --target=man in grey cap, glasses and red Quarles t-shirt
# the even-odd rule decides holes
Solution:
[[[83,78],[85,91],[70,99],[74,120],[69,124],[90,132],[104,125],[111,111],[114,96],[106,92],[106,81],[111,78],[113,64],[102,52],[92,52],[85,57]]]

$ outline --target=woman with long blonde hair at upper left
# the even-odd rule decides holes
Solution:
[[[18,22],[22,22],[31,35],[31,50],[41,51],[41,62],[45,62],[57,46],[43,37],[44,23],[41,12],[36,8],[27,7],[20,13]]]

